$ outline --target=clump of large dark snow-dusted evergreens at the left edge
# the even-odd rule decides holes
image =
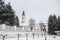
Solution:
[[[10,3],[5,4],[0,0],[0,24],[13,26],[15,24],[15,13]]]

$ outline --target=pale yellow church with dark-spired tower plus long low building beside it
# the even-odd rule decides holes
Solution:
[[[47,23],[43,23],[43,25],[41,25],[42,23],[37,23],[35,25],[32,26],[32,31],[41,31],[41,30],[45,30],[48,31],[48,25]],[[31,25],[27,24],[26,22],[26,15],[25,15],[25,11],[22,12],[22,16],[21,16],[21,20],[20,20],[20,27],[22,27],[22,30],[26,30],[26,31],[31,31]]]

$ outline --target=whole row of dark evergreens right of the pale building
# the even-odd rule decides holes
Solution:
[[[56,34],[55,31],[60,31],[60,16],[50,15],[48,18],[48,33]]]

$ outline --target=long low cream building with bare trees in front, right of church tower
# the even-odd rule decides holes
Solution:
[[[29,25],[30,28],[30,25]],[[33,26],[33,31],[48,31],[48,24],[47,23],[37,23]]]

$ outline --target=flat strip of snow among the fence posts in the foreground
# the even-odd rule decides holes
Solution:
[[[0,40],[3,40],[2,38],[0,38]],[[4,40],[18,40],[18,36],[7,36]],[[28,37],[26,37],[26,35],[20,35],[19,40],[45,40],[44,35],[35,35],[34,38],[32,35],[28,35]],[[60,40],[60,36],[52,36],[52,35],[46,35],[46,40]]]

